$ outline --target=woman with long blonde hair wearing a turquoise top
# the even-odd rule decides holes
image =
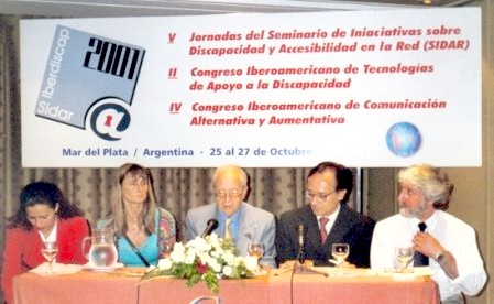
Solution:
[[[176,222],[156,203],[151,171],[133,163],[122,165],[110,203],[110,214],[97,226],[114,229],[119,262],[127,267],[156,264],[164,248],[176,241]]]

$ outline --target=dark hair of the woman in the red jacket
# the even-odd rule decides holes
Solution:
[[[62,191],[55,184],[47,182],[34,182],[24,186],[21,191],[19,199],[19,210],[11,218],[9,218],[7,228],[19,227],[26,230],[33,228],[28,219],[25,210],[28,207],[39,204],[46,205],[52,209],[55,209],[56,204],[58,204],[57,216],[59,218],[70,218],[83,215],[79,207],[69,204]]]

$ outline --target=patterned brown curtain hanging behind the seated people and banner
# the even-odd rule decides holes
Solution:
[[[19,206],[21,188],[34,181],[57,184],[78,205],[91,225],[108,213],[116,169],[24,169],[21,162],[20,41],[22,17],[0,15],[0,250],[4,225]],[[29,131],[29,130],[25,130]],[[43,153],[43,151],[37,151]],[[176,217],[183,234],[188,209],[213,202],[213,169],[151,169],[160,204]],[[248,203],[276,216],[304,204],[307,169],[246,169],[251,192]]]

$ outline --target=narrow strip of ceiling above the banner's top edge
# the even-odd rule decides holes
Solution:
[[[487,0],[0,0],[0,14],[45,17],[189,15],[238,12],[461,7]]]

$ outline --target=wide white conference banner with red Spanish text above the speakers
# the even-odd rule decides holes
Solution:
[[[25,167],[482,164],[480,8],[21,21]]]

